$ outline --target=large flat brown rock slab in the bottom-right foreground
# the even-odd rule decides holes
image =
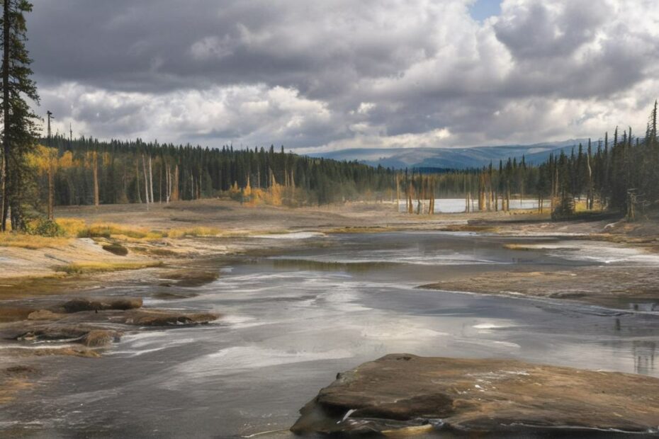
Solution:
[[[517,360],[391,354],[340,373],[300,414],[291,428],[298,434],[528,428],[653,435],[659,380]]]

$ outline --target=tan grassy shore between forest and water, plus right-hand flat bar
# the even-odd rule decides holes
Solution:
[[[58,295],[62,292],[83,290],[94,283],[113,283],[120,279],[141,277],[136,273],[153,270],[156,275],[167,278],[168,273],[186,270],[194,273],[196,261],[203,258],[219,258],[249,251],[244,241],[252,237],[268,234],[290,234],[295,232],[344,234],[344,233],[383,233],[383,232],[474,232],[492,234],[510,239],[584,239],[608,242],[627,246],[649,253],[659,252],[659,230],[655,234],[635,236],[627,223],[572,221],[551,222],[546,215],[529,215],[528,212],[475,212],[471,214],[409,215],[395,212],[390,203],[351,203],[344,206],[303,207],[290,209],[273,206],[246,206],[227,200],[198,200],[179,202],[171,205],[155,205],[144,210],[142,205],[103,205],[94,207],[66,207],[57,212],[60,217],[74,218],[88,224],[113,224],[131,227],[142,224],[142,229],[159,231],[180,230],[180,224],[187,221],[193,229],[217,229],[210,236],[178,236],[175,238],[133,239],[130,236],[114,235],[95,238],[69,238],[68,244],[45,246],[39,249],[25,249],[13,246],[0,246],[1,259],[9,269],[0,272],[0,322],[3,321],[1,305],[7,300],[15,301],[30,297]],[[172,213],[174,212],[174,213]],[[69,218],[67,217],[67,218]],[[641,227],[642,228],[642,227]],[[263,251],[276,251],[286,248],[287,239],[272,239]],[[103,246],[119,246],[128,252],[125,256],[106,251]],[[515,244],[511,244],[515,245]],[[517,249],[522,253],[524,246]],[[532,250],[532,249],[531,249]],[[101,265],[102,264],[102,265]],[[577,270],[583,274],[581,271]],[[586,270],[588,271],[588,270]],[[590,270],[592,271],[592,270]],[[17,273],[21,273],[18,274]],[[483,275],[480,278],[463,279],[455,283],[430,283],[419,285],[423,289],[454,290],[475,294],[528,295],[546,297],[531,287],[512,291],[510,275],[517,280],[531,281],[531,286],[543,279],[536,273],[518,271],[507,273],[508,277],[495,278]],[[549,275],[552,281],[556,276]],[[563,274],[563,273],[559,273]],[[592,273],[586,273],[592,275]],[[650,270],[648,270],[648,274]],[[193,278],[194,275],[188,276]],[[202,276],[203,277],[203,276]],[[580,280],[580,279],[575,279]],[[628,280],[626,280],[628,281]],[[659,278],[657,279],[659,283]],[[541,284],[546,284],[541,283]],[[544,285],[545,290],[570,290],[570,282],[564,285]],[[614,288],[616,292],[619,287]],[[545,291],[546,292],[546,291]],[[616,296],[606,297],[607,302]],[[641,295],[642,296],[642,295]],[[599,304],[590,301],[587,292],[566,293],[556,299],[576,300],[576,302]]]

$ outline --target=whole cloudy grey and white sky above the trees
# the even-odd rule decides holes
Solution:
[[[310,152],[643,130],[656,0],[33,0],[55,129]]]

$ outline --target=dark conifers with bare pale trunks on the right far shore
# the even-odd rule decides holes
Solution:
[[[581,200],[585,210],[621,212],[633,220],[639,209],[659,203],[657,111],[655,101],[641,137],[631,127],[616,127],[612,135],[550,154],[539,165],[529,166],[522,157],[466,173],[466,211],[474,195],[478,210],[508,210],[513,193],[537,198],[539,210],[546,205],[556,218],[573,215]]]

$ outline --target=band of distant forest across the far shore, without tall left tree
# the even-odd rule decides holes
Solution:
[[[209,149],[135,141],[101,142],[56,135],[40,149],[41,200],[56,205],[167,203],[229,195],[243,203],[322,205],[347,200],[405,200],[405,212],[434,213],[435,198],[464,198],[465,211],[508,211],[511,198],[536,198],[539,210],[570,217],[575,206],[621,212],[659,204],[657,104],[645,137],[622,134],[551,154],[542,164],[522,156],[481,169],[385,169],[356,161],[269,149]],[[47,153],[47,154],[46,154]],[[52,179],[52,183],[47,183]],[[50,194],[50,190],[48,191]]]

